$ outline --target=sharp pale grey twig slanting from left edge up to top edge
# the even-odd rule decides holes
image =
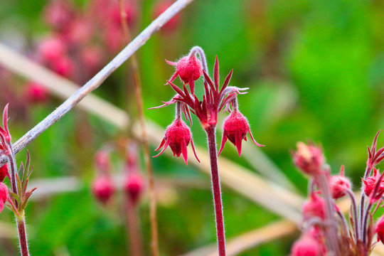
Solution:
[[[149,26],[147,26],[142,33],[139,34],[134,40],[129,43],[110,63],[108,63],[99,73],[97,73],[91,80],[71,95],[68,100],[65,100],[56,110],[48,115],[43,121],[38,123],[29,132],[23,135],[14,144],[14,151],[17,154],[21,149],[25,148],[29,143],[42,134],[53,123],[57,122],[68,111],[80,102],[90,92],[99,87],[105,79],[107,79],[117,68],[119,68],[125,60],[132,56],[139,48],[141,48],[151,36],[158,31],[161,26],[169,21],[174,15],[181,11],[184,7],[190,4],[193,0],[178,0],[172,4],[169,9],[164,11],[158,18],[156,18]],[[0,163],[6,163],[6,157],[2,157]]]

